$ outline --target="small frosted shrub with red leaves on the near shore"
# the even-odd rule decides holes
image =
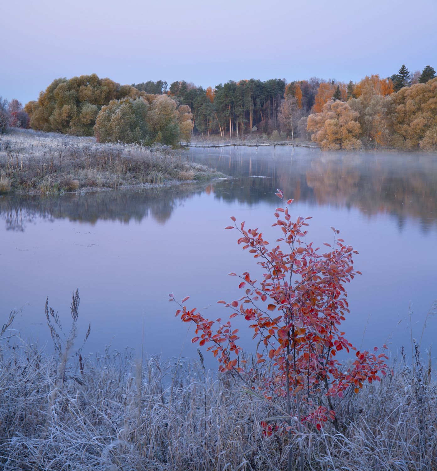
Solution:
[[[265,435],[291,431],[293,421],[300,431],[320,430],[327,422],[339,430],[336,405],[358,393],[364,382],[380,381],[387,356],[377,353],[376,347],[372,352],[356,350],[342,332],[349,312],[345,285],[360,273],[353,266],[357,252],[337,238],[334,227],[333,244],[326,243],[325,252],[308,243],[310,218],[292,220],[293,200],[286,202],[283,192],[277,191],[283,207],[275,210],[273,226],[280,232],[276,244],[270,246],[258,228],[246,230],[244,222],[237,226],[235,217],[231,217],[233,225],[226,227],[240,233],[238,244],[249,249],[260,268],[257,274],[246,271],[239,276],[240,299],[218,301],[231,310],[229,320],[210,320],[195,308],[188,309],[184,305],[188,296],[178,302],[176,316],[195,324],[192,342],[209,345],[220,372],[232,374],[279,411],[279,416],[261,423]],[[175,300],[173,294],[169,300]],[[237,343],[234,317],[248,322],[257,341],[252,364]],[[342,350],[355,352],[348,368],[336,359]]]

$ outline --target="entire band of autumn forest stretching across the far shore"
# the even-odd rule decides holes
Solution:
[[[24,107],[0,100],[0,129],[31,127],[98,142],[179,142],[205,138],[299,139],[327,150],[437,149],[433,67],[348,83],[312,77],[120,85],[96,74],[57,79]]]

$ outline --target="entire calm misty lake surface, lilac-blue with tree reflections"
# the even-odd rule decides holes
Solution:
[[[279,237],[276,188],[293,198],[293,217],[312,216],[308,239],[332,241],[331,226],[353,245],[362,271],[348,285],[346,337],[358,347],[388,343],[411,351],[437,299],[437,156],[324,153],[290,147],[191,149],[190,160],[232,178],[154,190],[0,198],[0,315],[23,308],[15,327],[48,341],[44,304],[69,325],[79,288],[80,334],[91,322],[86,350],[106,344],[163,357],[196,355],[193,328],[174,316],[168,294],[190,295],[191,307],[226,317],[216,301],[237,299],[230,271],[256,271],[254,260],[225,231],[229,216]],[[277,229],[277,228],[276,228]],[[411,324],[410,316],[411,314]],[[144,319],[144,334],[143,334]],[[2,323],[0,319],[0,323]],[[435,340],[437,318],[422,346]],[[144,337],[143,337],[144,336]],[[143,340],[144,338],[144,340]],[[244,346],[250,342],[244,337]]]

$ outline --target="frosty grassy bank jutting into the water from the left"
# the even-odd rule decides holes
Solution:
[[[97,144],[94,138],[12,130],[0,139],[0,193],[53,194],[223,177],[170,146]]]

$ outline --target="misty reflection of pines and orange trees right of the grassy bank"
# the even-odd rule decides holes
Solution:
[[[395,215],[420,219],[423,230],[437,219],[437,158],[416,153],[326,153],[312,149],[277,148],[255,152],[238,148],[226,158],[218,152],[199,153],[193,159],[217,166],[237,178],[239,191],[217,193],[224,200],[256,204],[275,200],[282,188],[296,201],[312,205],[356,207],[368,215]],[[217,155],[220,154],[220,155]],[[268,178],[251,178],[263,175]],[[216,186],[217,187],[217,186]],[[223,187],[219,185],[218,187]]]

